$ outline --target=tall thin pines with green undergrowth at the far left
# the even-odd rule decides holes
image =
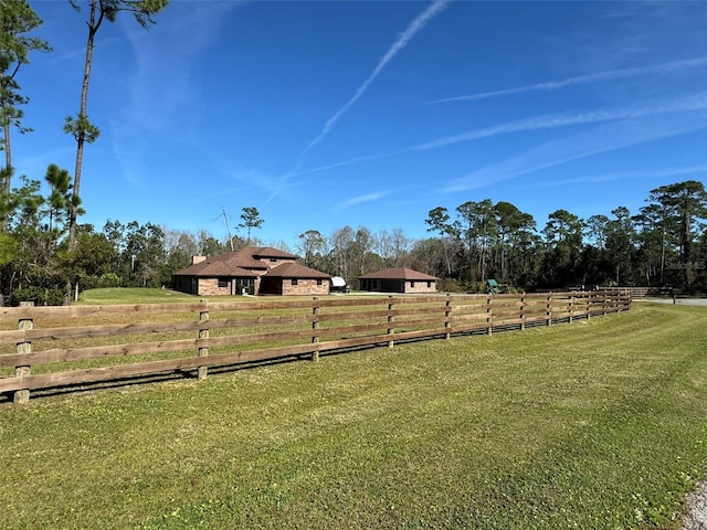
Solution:
[[[23,106],[29,97],[22,93],[20,74],[30,64],[31,54],[51,52],[52,47],[34,35],[43,21],[28,0],[0,2],[0,149],[4,151],[0,168],[0,301],[28,288],[44,289],[44,300],[54,300],[50,292],[55,290],[60,277],[66,280],[65,295],[76,285],[72,278],[78,277],[76,267],[81,266],[81,259],[73,254],[77,251],[78,216],[85,213],[80,197],[84,149],[101,134],[88,119],[95,38],[106,21],[115,22],[122,12],[131,14],[147,29],[167,3],[168,0],[67,0],[67,8],[86,15],[87,28],[78,112],[67,116],[63,125],[64,132],[76,142],[75,166],[72,177],[65,169],[50,165],[44,176],[50,192],[42,195],[42,182],[35,179],[21,176],[20,186],[17,184],[12,134],[32,130],[23,124]],[[30,254],[34,255],[25,262],[30,247]],[[49,266],[55,259],[60,261],[59,269]]]

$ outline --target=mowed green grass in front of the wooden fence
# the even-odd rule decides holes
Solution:
[[[10,529],[678,528],[707,307],[0,406]]]

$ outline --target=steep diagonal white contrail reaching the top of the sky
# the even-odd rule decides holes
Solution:
[[[410,41],[430,22],[434,17],[436,17],[446,6],[450,3],[450,0],[434,0],[422,13],[420,13],[415,19],[408,25],[405,31],[398,35],[398,39],[392,43],[392,45],[388,49],[388,52],[382,56],[382,59],[378,62],[373,72],[366,78],[366,81],[356,89],[354,96],[346,102],[346,104],[339,108],[324,125],[321,131],[303,149],[303,151],[297,157],[295,161],[294,168],[283,177],[282,183],[278,190],[275,191],[268,199],[270,202],[282,189],[287,179],[293,174],[297,173],[302,168],[302,165],[306,158],[306,156],[314,149],[321,140],[324,140],[327,135],[331,131],[337,121],[344,116],[355,104],[358,102],[363,94],[369,89],[376,77],[380,75],[380,73],[388,66],[388,64],[398,55],[404,47],[410,43]]]

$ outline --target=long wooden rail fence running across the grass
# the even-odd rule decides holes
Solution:
[[[0,308],[0,394],[464,333],[525,329],[631,308],[631,292],[401,295],[310,300]],[[117,324],[116,324],[117,322]]]

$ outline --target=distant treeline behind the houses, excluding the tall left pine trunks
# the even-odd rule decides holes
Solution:
[[[52,179],[55,167],[48,170],[48,182]],[[240,236],[219,241],[205,230],[109,220],[101,231],[80,224],[72,251],[67,201],[57,201],[55,193],[42,195],[38,181],[22,182],[12,191],[13,208],[0,233],[0,294],[8,305],[64,304],[76,286],[169,287],[172,273],[189,266],[192,256],[249,243]],[[652,285],[705,292],[707,193],[701,182],[654,189],[637,213],[619,206],[611,215],[582,220],[557,210],[538,230],[532,215],[515,205],[483,200],[465,202],[454,212],[430,210],[421,220],[431,233],[428,239],[411,240],[400,229],[373,233],[344,226],[329,235],[308,230],[294,248],[256,239],[250,243],[298,254],[305,265],[344,276],[354,288],[362,274],[405,266],[440,277],[441,289],[449,292],[484,290],[488,278],[524,290]],[[256,220],[260,226],[263,220]]]

